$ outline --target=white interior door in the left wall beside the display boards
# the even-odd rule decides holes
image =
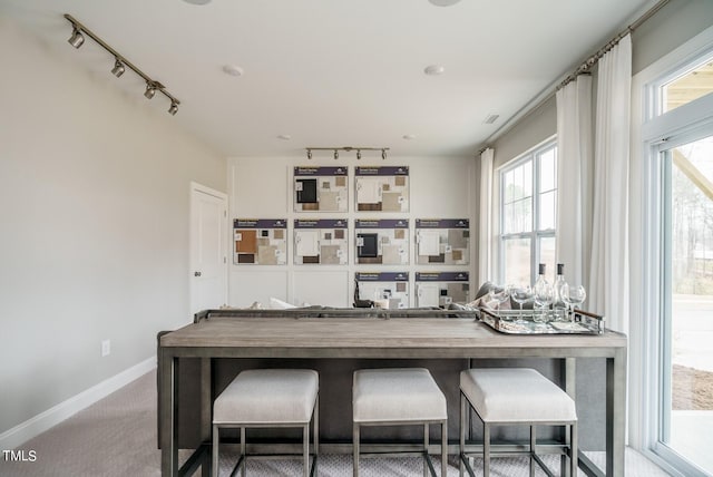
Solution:
[[[191,312],[227,303],[227,196],[191,185]]]

